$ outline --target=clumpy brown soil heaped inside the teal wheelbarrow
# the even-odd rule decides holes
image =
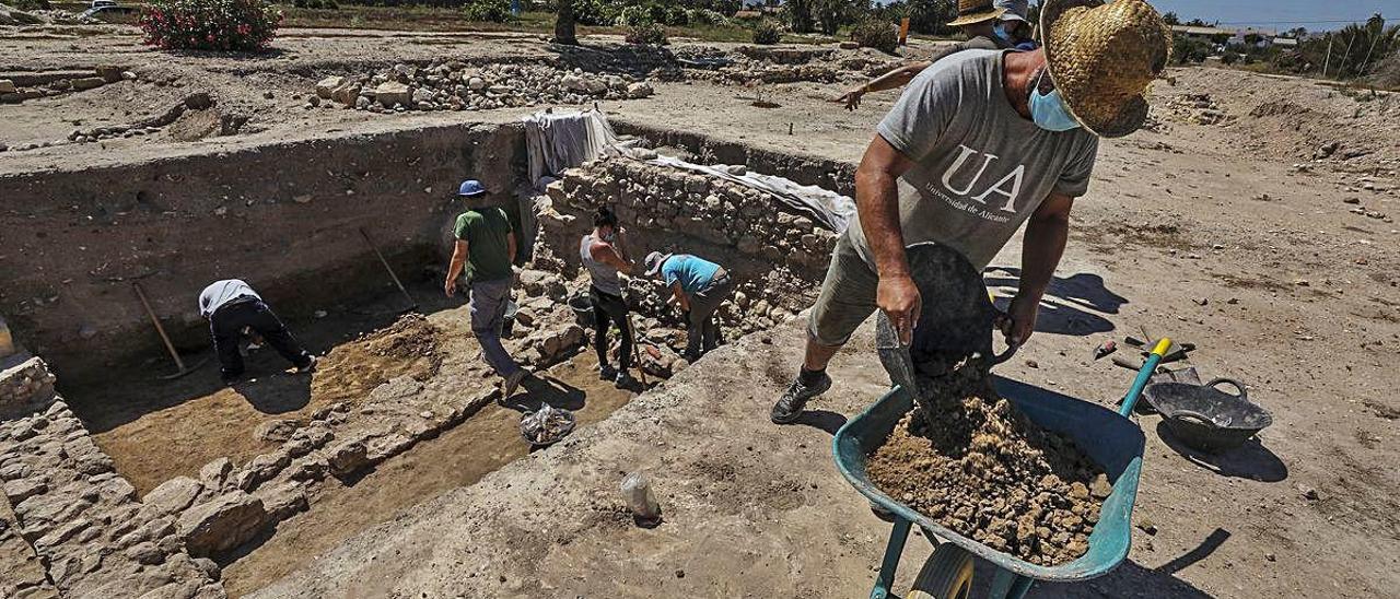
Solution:
[[[1032,564],[1084,556],[1112,491],[1103,469],[974,374],[918,385],[923,407],[871,456],[871,480],[948,529]]]

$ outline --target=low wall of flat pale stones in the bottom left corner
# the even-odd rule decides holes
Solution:
[[[48,381],[32,360],[25,376]],[[35,367],[38,367],[35,369]],[[221,598],[218,568],[195,560],[172,521],[153,518],[62,397],[0,421],[0,571],[4,596]],[[34,402],[31,402],[34,404]],[[13,507],[13,519],[3,515]],[[28,544],[27,551],[18,544]],[[29,558],[29,556],[36,560]],[[35,565],[43,565],[35,570]],[[43,572],[41,578],[38,574]]]

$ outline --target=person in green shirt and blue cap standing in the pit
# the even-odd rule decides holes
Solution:
[[[469,204],[482,206],[486,188],[475,179],[462,182],[458,196]],[[456,217],[452,230],[456,244],[452,248],[452,263],[447,269],[442,290],[448,297],[456,294],[456,279],[466,272],[472,313],[472,334],[482,344],[482,355],[503,379],[501,399],[515,393],[529,371],[521,368],[501,344],[501,327],[505,325],[505,306],[511,301],[511,286],[515,273],[515,231],[500,206],[468,209]]]

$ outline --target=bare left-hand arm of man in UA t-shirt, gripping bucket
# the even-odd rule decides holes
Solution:
[[[883,137],[875,136],[855,169],[855,210],[860,211],[861,231],[879,273],[875,304],[889,315],[903,343],[913,339],[920,308],[918,287],[909,274],[904,256],[896,188],[896,181],[910,167],[913,162],[909,158]]]

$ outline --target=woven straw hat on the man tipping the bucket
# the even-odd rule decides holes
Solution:
[[[1147,120],[1147,92],[1172,55],[1172,31],[1144,0],[1047,0],[1040,13],[1050,80],[1079,125],[1123,137]]]

